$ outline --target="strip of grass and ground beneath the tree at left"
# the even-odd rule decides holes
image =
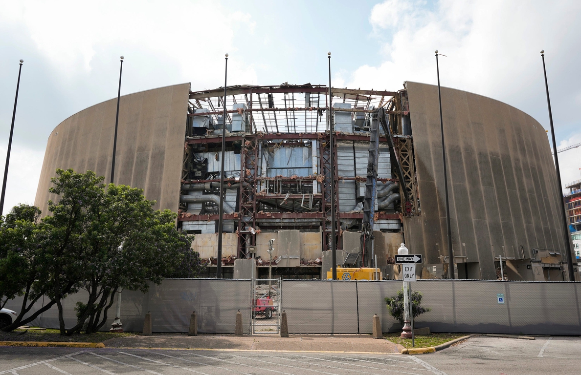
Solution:
[[[34,328],[34,327],[33,327]],[[61,336],[58,329],[26,330],[17,329],[12,332],[0,331],[0,341],[58,341],[58,342],[102,342],[110,338],[135,336],[135,333],[98,332],[91,334],[73,334]]]

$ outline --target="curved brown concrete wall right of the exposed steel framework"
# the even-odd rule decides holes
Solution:
[[[407,82],[407,89],[422,215],[404,220],[406,244],[425,254],[424,265],[441,264],[448,250],[437,86]],[[454,255],[479,262],[468,277],[496,279],[493,257],[532,258],[532,248],[566,261],[561,194],[539,122],[450,88],[442,88],[442,111]]]

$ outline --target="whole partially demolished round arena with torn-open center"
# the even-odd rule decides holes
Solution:
[[[383,277],[394,279],[393,255],[404,242],[424,255],[419,277],[446,277],[437,86],[331,93],[325,85],[243,85],[227,87],[224,97],[224,88],[180,84],[121,96],[114,182],[177,212],[177,228],[195,236],[192,248],[210,277],[218,262],[224,277],[234,277],[235,259],[254,258],[257,277],[271,265],[278,277],[326,278],[333,226],[338,264],[351,253],[360,254],[356,266],[377,258]],[[52,131],[35,199],[43,212],[56,168],[109,181],[116,104],[96,104]],[[497,279],[503,262],[509,280],[568,280],[560,189],[543,127],[457,89],[442,88],[442,109],[456,277]]]

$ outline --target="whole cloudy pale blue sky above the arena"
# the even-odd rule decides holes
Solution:
[[[191,82],[326,84],[396,91],[436,84],[511,104],[548,124],[557,148],[581,142],[581,2],[553,1],[3,1],[0,0],[0,174],[24,59],[5,212],[34,203],[46,140],[61,121],[121,95]],[[548,134],[550,137],[550,133]],[[550,139],[550,138],[549,138]],[[581,147],[559,154],[581,179]]]

